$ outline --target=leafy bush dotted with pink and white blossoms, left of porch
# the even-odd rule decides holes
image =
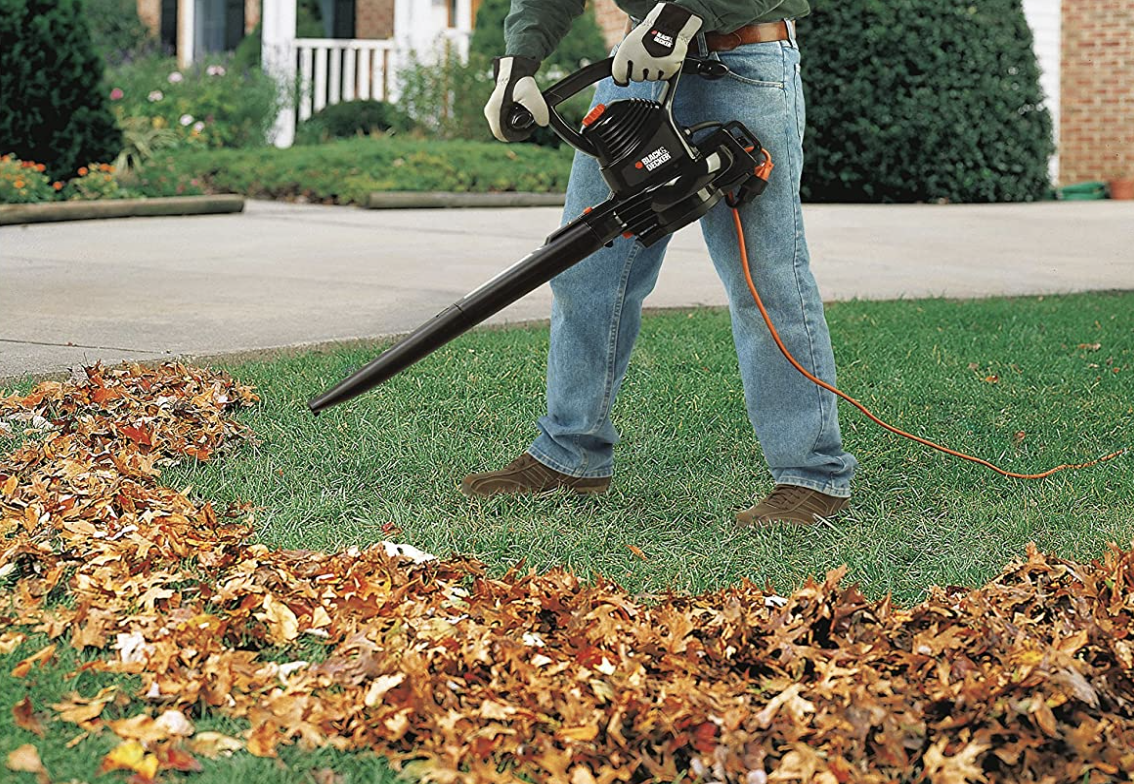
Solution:
[[[172,58],[126,62],[108,73],[109,94],[124,121],[146,118],[184,144],[262,145],[279,111],[279,90],[259,68],[234,68],[230,60],[212,58],[185,71]]]

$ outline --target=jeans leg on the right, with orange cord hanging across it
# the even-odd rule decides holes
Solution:
[[[696,93],[689,109],[699,119],[739,119],[770,152],[768,188],[741,210],[753,280],[788,351],[833,386],[835,356],[799,204],[798,49],[788,42],[751,44],[721,59],[733,75]],[[835,396],[799,374],[772,340],[744,278],[731,210],[718,204],[701,227],[728,294],[748,418],[773,481],[849,496],[857,462],[843,450]]]

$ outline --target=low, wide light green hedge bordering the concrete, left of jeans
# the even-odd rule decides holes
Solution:
[[[350,138],[288,150],[177,151],[136,174],[134,193],[240,193],[332,204],[374,191],[561,193],[572,157],[532,144]],[[178,188],[181,188],[178,191]]]

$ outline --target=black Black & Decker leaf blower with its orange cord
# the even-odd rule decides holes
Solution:
[[[728,66],[719,60],[686,60],[683,68],[665,82],[659,100],[624,99],[600,103],[583,118],[582,128],[576,130],[564,120],[557,107],[610,76],[612,62],[613,59],[594,62],[543,92],[549,124],[570,146],[598,159],[602,177],[610,186],[610,197],[585,210],[549,236],[542,247],[438,313],[378,359],[312,398],[307,403],[312,412],[318,414],[373,389],[583,261],[619,235],[636,237],[640,243],[650,246],[700,219],[725,200],[733,208],[748,290],[780,353],[813,383],[847,401],[874,423],[903,438],[1017,479],[1040,479],[1066,469],[1083,469],[1127,452],[1124,448],[1086,463],[1065,463],[1040,473],[1006,471],[980,457],[899,430],[807,371],[780,340],[760,300],[737,210],[741,204],[763,193],[772,170],[771,155],[761,146],[760,140],[736,120],[699,123],[685,128],[674,119],[674,93],[683,73],[717,79],[728,74]],[[517,107],[508,121],[515,130],[525,130],[534,123],[523,107]],[[711,133],[696,136],[705,130]]]

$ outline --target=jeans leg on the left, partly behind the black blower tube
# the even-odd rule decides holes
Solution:
[[[599,84],[594,103],[653,98],[657,85]],[[606,201],[610,188],[593,158],[575,153],[564,222]],[[551,281],[551,346],[548,413],[528,454],[573,477],[609,477],[618,430],[610,407],[626,376],[642,321],[642,302],[653,290],[668,238],[650,247],[618,238]]]

